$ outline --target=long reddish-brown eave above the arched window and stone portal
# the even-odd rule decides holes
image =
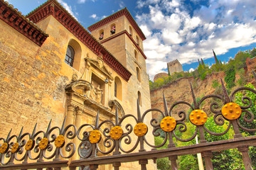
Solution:
[[[28,13],[28,17],[34,23],[42,21],[43,18],[52,15],[65,28],[67,28],[76,38],[84,43],[96,55],[102,54],[103,61],[106,62],[125,81],[128,81],[132,74],[105,48],[98,42],[83,26],[75,20],[68,11],[56,0],[48,0],[35,10]],[[106,57],[107,56],[107,57]]]

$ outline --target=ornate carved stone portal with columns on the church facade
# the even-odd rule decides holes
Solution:
[[[79,127],[85,120],[93,123],[98,111],[100,120],[114,120],[115,105],[120,111],[121,118],[124,115],[122,106],[118,102],[110,101],[109,98],[113,80],[100,57],[95,60],[87,55],[82,76],[78,78],[76,74],[73,75],[73,81],[65,88],[66,125],[75,124]],[[74,159],[78,159],[78,155]]]

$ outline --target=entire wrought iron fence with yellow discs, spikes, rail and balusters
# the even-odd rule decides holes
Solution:
[[[137,117],[129,114],[119,119],[118,109],[116,109],[115,121],[105,120],[100,123],[99,113],[97,113],[95,125],[85,123],[77,128],[75,125],[65,126],[65,120],[63,120],[61,128],[51,128],[50,121],[46,132],[42,130],[37,131],[36,125],[32,133],[23,133],[23,129],[21,129],[19,135],[11,135],[10,131],[6,138],[0,138],[2,142],[0,146],[0,169],[61,169],[61,167],[67,166],[70,169],[75,169],[78,166],[82,168],[90,166],[90,169],[97,169],[100,164],[112,164],[114,169],[119,169],[119,166],[124,162],[139,162],[142,169],[146,169],[148,159],[155,161],[161,157],[169,157],[171,168],[177,169],[177,156],[196,153],[202,153],[206,169],[213,169],[213,164],[210,160],[212,152],[231,148],[238,148],[239,152],[242,152],[245,169],[252,169],[248,147],[256,145],[256,136],[242,137],[240,131],[256,131],[256,129],[250,129],[243,125],[244,123],[250,124],[254,120],[254,114],[248,110],[252,106],[252,99],[243,93],[243,104],[240,106],[238,103],[235,103],[235,94],[240,91],[251,91],[253,94],[256,94],[256,91],[247,87],[240,87],[228,96],[227,89],[225,89],[222,80],[221,83],[223,96],[211,94],[204,96],[198,102],[191,86],[193,105],[186,101],[178,101],[168,109],[166,98],[164,97],[164,112],[151,108],[141,114],[139,103],[137,103]],[[210,113],[207,114],[207,111],[205,112],[201,108],[202,103],[209,98],[212,99],[209,111],[213,114],[215,124],[219,126],[228,124],[223,132],[212,132],[206,128],[205,123]],[[178,108],[181,104],[191,108],[191,113],[187,114],[186,111],[178,111],[178,118],[172,117],[174,108]],[[145,116],[151,114],[152,111],[158,113],[163,118],[161,120],[152,118],[149,125],[147,125],[144,122]],[[127,123],[127,118],[134,119],[136,125]],[[191,137],[183,139],[178,137],[176,132],[183,133],[188,130],[186,121],[190,121],[196,128]],[[243,124],[240,123],[241,121]],[[152,132],[149,132],[149,126],[153,129]],[[90,131],[87,128],[90,128]],[[100,132],[101,129],[103,130],[102,133]],[[231,129],[235,133],[234,138],[231,140],[206,141],[205,133],[225,135]],[[157,137],[160,135],[160,132],[165,134],[164,142],[160,145],[155,145],[153,139],[149,141],[145,137],[147,133],[152,133],[154,137]],[[176,147],[174,139],[188,142],[193,140],[197,134],[199,135],[199,144]],[[73,140],[79,140],[80,144],[75,146]],[[100,142],[103,143],[103,149],[100,148]],[[156,149],[165,145],[166,142],[169,142],[169,148]],[[132,145],[132,147],[127,149],[123,145]],[[147,145],[151,150],[146,151],[144,145]],[[134,152],[136,149],[139,149],[139,152]],[[107,156],[97,157],[97,153]],[[80,159],[72,160],[68,163],[68,159],[73,157],[74,154],[78,154]],[[31,160],[36,161],[30,163]],[[47,160],[49,161],[46,162]]]

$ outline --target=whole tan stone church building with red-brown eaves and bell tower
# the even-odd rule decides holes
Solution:
[[[11,134],[22,127],[31,132],[36,123],[46,130],[50,120],[60,127],[65,117],[66,125],[94,124],[98,111],[100,122],[114,121],[116,106],[119,118],[137,116],[137,99],[141,113],[151,108],[146,38],[127,8],[87,29],[58,1],[23,16],[0,0],[1,137],[11,128]],[[151,164],[148,169],[155,169]]]

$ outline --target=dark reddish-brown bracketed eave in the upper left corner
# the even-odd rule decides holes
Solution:
[[[0,0],[0,19],[39,46],[48,38],[48,34],[4,0]]]

